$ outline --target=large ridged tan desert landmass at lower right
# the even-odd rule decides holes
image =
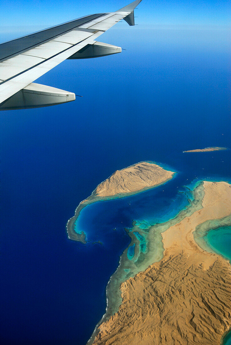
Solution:
[[[211,220],[217,227],[231,224],[228,183],[202,182],[186,210],[150,228],[144,270],[141,265],[121,283],[122,304],[101,322],[91,344],[221,343],[231,327],[231,265],[206,251],[203,241],[198,245],[198,232],[208,231]],[[159,235],[162,257],[155,254]]]

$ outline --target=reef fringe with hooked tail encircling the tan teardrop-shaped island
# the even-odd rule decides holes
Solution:
[[[159,186],[161,186],[161,185],[171,181],[176,176],[176,174],[178,174],[178,172],[174,172],[174,171],[171,171],[171,170],[167,170],[166,168],[163,168],[160,164],[156,164],[156,162],[152,162],[152,161],[145,161],[145,162],[147,162],[149,164],[154,164],[154,165],[156,165],[158,167],[161,167],[164,171],[172,172],[172,176],[170,178],[165,179],[161,183],[158,183],[158,184],[150,186],[150,187],[144,187],[142,189],[139,189],[139,190],[136,190],[136,191],[133,191],[133,192],[130,192],[130,193],[118,193],[118,194],[115,194],[115,195],[109,195],[109,196],[105,196],[105,197],[97,196],[95,194],[97,188],[100,185],[102,185],[102,183],[104,183],[107,180],[109,180],[115,174],[115,173],[113,173],[112,175],[110,175],[109,178],[107,178],[103,182],[99,183],[98,186],[93,190],[92,194],[88,198],[86,198],[85,200],[81,201],[79,203],[79,205],[76,207],[74,216],[71,217],[68,220],[67,224],[66,224],[66,234],[67,234],[68,239],[80,242],[82,244],[86,244],[87,243],[87,237],[86,237],[86,234],[84,233],[84,231],[81,231],[81,233],[78,234],[75,231],[75,229],[74,229],[75,222],[76,222],[77,218],[79,217],[81,210],[83,208],[85,208],[86,206],[94,204],[94,203],[96,203],[98,201],[106,201],[106,200],[112,200],[112,199],[125,198],[125,197],[129,197],[129,196],[136,195],[136,194],[139,194],[139,193],[143,193],[143,192],[145,192],[147,190],[159,187]],[[143,163],[143,162],[138,162],[136,164],[130,165],[127,168],[134,167],[134,166],[136,166],[138,164],[141,164],[141,163]],[[124,168],[124,169],[127,169],[127,168]],[[124,169],[121,169],[121,170],[124,170]]]

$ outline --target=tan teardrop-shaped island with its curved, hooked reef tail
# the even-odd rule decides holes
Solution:
[[[165,170],[154,162],[144,161],[127,168],[116,170],[108,179],[100,183],[86,200],[76,208],[75,216],[67,223],[69,239],[86,244],[84,231],[76,229],[76,220],[80,211],[96,201],[121,198],[157,187],[170,180],[175,173]]]

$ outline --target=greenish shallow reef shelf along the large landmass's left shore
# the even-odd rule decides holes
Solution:
[[[137,273],[144,271],[147,269],[148,266],[153,264],[154,262],[158,262],[163,258],[163,242],[162,242],[162,236],[161,233],[164,232],[167,228],[169,228],[170,225],[174,225],[181,221],[185,216],[191,215],[195,210],[200,209],[201,206],[201,200],[204,196],[204,189],[202,181],[196,181],[191,184],[190,186],[193,189],[187,188],[192,193],[192,200],[189,199],[189,205],[180,211],[179,214],[173,219],[170,219],[169,221],[162,223],[162,224],[156,224],[154,226],[151,226],[148,229],[146,242],[147,242],[147,253],[144,255],[139,255],[136,262],[134,263],[131,260],[128,260],[127,258],[127,249],[125,249],[124,253],[122,254],[119,265],[117,267],[117,270],[115,273],[110,277],[110,280],[107,284],[106,288],[106,296],[107,296],[107,308],[106,313],[102,317],[102,319],[98,322],[98,324],[95,327],[95,330],[92,334],[92,337],[88,341],[88,345],[93,344],[94,338],[99,332],[98,327],[100,324],[106,322],[110,316],[114,315],[119,307],[122,304],[122,296],[121,296],[121,290],[120,286],[123,282],[125,282],[130,277],[134,277]],[[125,229],[128,230],[128,229]],[[142,232],[141,229],[139,229],[136,226],[136,222],[133,222],[133,233],[135,231],[139,232],[140,234],[144,235],[144,232]],[[132,237],[131,232],[127,231],[128,235]],[[132,239],[132,238],[131,238]],[[133,243],[133,242],[132,242]],[[138,241],[135,242],[136,247],[138,245]],[[128,273],[125,273],[125,270],[129,270]]]

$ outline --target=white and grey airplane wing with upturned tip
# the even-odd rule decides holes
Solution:
[[[75,100],[75,94],[33,83],[66,59],[121,52],[96,39],[121,19],[134,23],[137,0],[116,12],[79,18],[0,45],[0,110],[46,107]]]

